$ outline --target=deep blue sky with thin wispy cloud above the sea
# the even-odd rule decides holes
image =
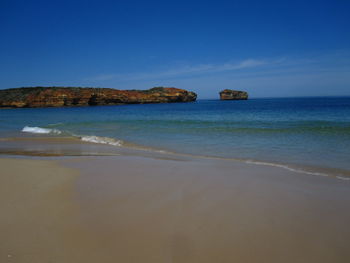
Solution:
[[[0,0],[0,89],[350,95],[350,1]]]

